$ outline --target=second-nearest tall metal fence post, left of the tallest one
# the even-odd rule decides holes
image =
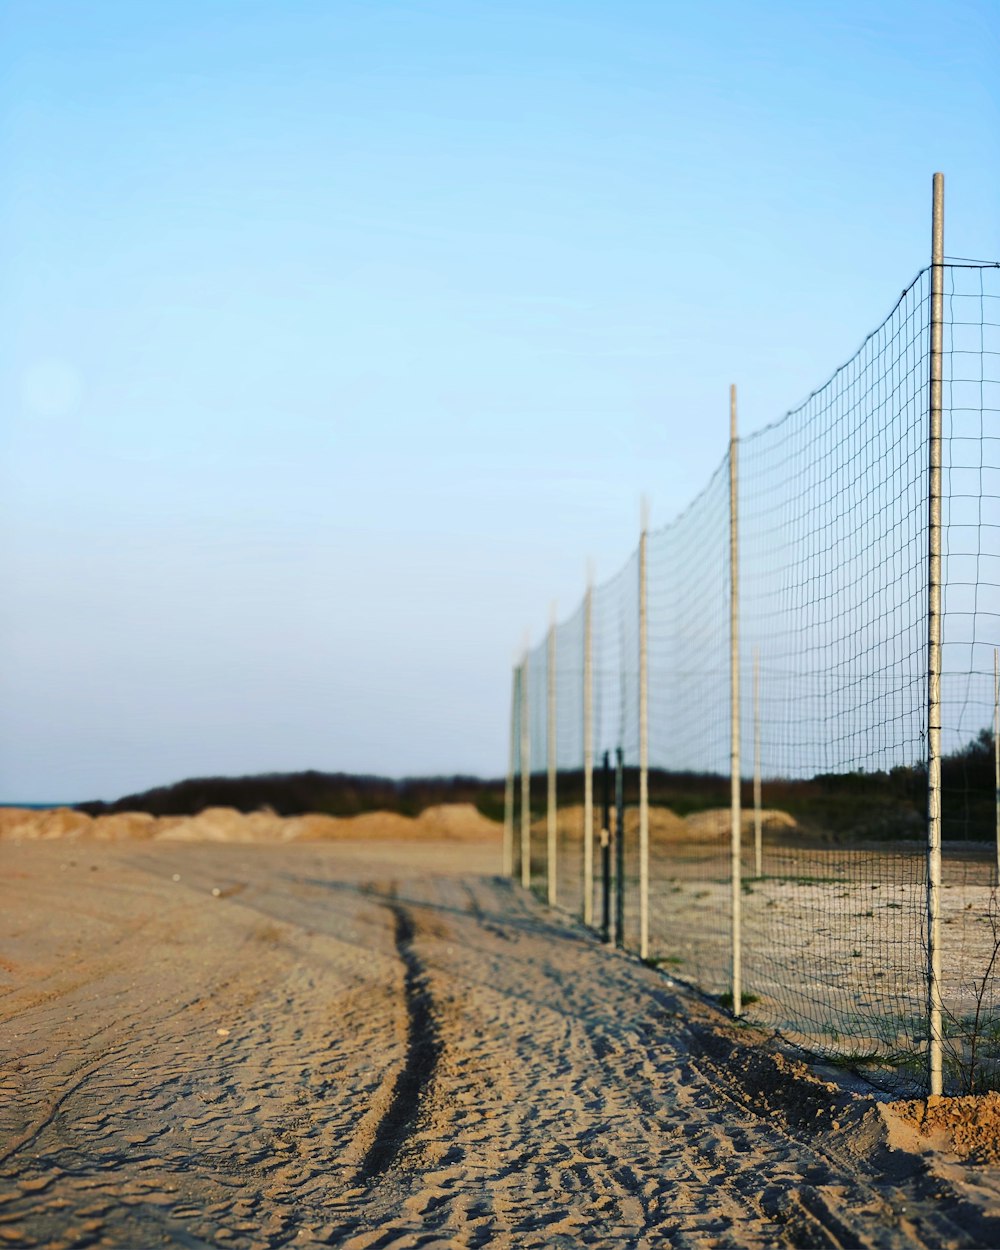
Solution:
[[[740,545],[738,529],[736,388],[729,388],[729,690],[730,690],[730,881],[732,906],[732,1015],[742,1015],[741,821],[740,811]]]

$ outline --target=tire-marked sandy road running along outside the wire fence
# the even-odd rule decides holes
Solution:
[[[996,1168],[891,1149],[492,845],[0,855],[0,1245],[1000,1245]]]

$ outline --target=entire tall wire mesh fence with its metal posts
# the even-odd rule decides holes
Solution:
[[[936,251],[514,674],[505,868],[894,1090],[1000,1085],[1000,266]]]

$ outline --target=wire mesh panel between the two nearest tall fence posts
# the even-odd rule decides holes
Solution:
[[[760,876],[744,868],[751,1010],[810,1050],[912,1075],[922,824],[885,791],[926,754],[929,295],[924,272],[825,386],[740,448],[744,665],[751,648],[775,809]],[[815,816],[799,786],[778,834],[795,780],[818,790]]]

